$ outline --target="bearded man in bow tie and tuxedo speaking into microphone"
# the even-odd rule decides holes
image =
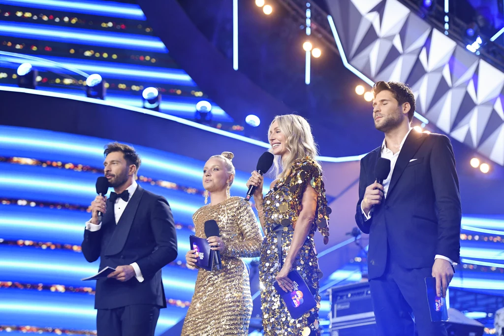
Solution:
[[[104,154],[115,192],[91,203],[82,242],[87,261],[100,257],[100,270],[115,268],[96,282],[98,336],[153,336],[159,309],[166,307],[161,268],[177,257],[173,216],[164,197],[135,181],[141,162],[135,149],[115,142]]]

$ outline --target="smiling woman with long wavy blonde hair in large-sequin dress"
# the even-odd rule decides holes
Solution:
[[[296,115],[276,117],[268,139],[271,151],[280,161],[275,161],[275,166],[283,169],[264,198],[263,178],[257,172],[253,172],[247,182],[247,186],[257,186],[254,200],[265,233],[259,269],[264,334],[318,336],[322,272],[313,234],[319,228],[327,244],[330,208],[327,207],[321,167],[315,160],[316,145],[309,124]],[[301,274],[317,301],[317,307],[299,319],[290,316],[273,287],[276,281],[283,290],[291,292],[293,284],[287,277],[291,270]]]

